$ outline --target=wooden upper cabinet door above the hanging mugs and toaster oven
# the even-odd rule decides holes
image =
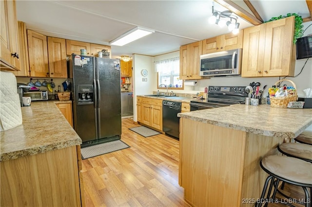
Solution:
[[[30,76],[50,77],[47,36],[27,30]]]

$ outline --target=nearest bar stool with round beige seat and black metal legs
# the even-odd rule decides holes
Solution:
[[[268,203],[271,201],[270,199],[273,199],[272,202],[275,201],[274,199],[278,188],[278,183],[280,181],[302,187],[305,193],[305,206],[309,207],[310,205],[311,207],[311,196],[309,195],[308,189],[310,189],[311,194],[312,163],[290,156],[269,155],[261,159],[260,166],[266,173],[269,174],[269,176],[265,181],[260,199],[257,199],[255,205],[256,207],[262,206],[263,203],[265,203],[265,207],[267,207]],[[269,182],[270,186],[265,198],[265,193],[267,191]],[[273,187],[274,191],[273,196],[271,197],[271,191]],[[310,204],[308,201],[310,201]]]

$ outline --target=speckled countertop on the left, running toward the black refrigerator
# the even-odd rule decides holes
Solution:
[[[81,144],[56,103],[71,101],[32,102],[22,107],[22,125],[0,133],[0,161]]]

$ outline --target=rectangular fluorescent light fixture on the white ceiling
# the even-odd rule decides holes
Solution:
[[[150,35],[152,33],[155,33],[155,31],[142,27],[136,27],[125,34],[120,35],[113,41],[109,42],[109,44],[123,46],[125,44],[128,44],[129,42],[135,41],[143,36]]]

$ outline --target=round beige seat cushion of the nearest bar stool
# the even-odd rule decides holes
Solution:
[[[312,185],[312,163],[281,155],[266,156],[261,160],[267,171],[294,182]]]

